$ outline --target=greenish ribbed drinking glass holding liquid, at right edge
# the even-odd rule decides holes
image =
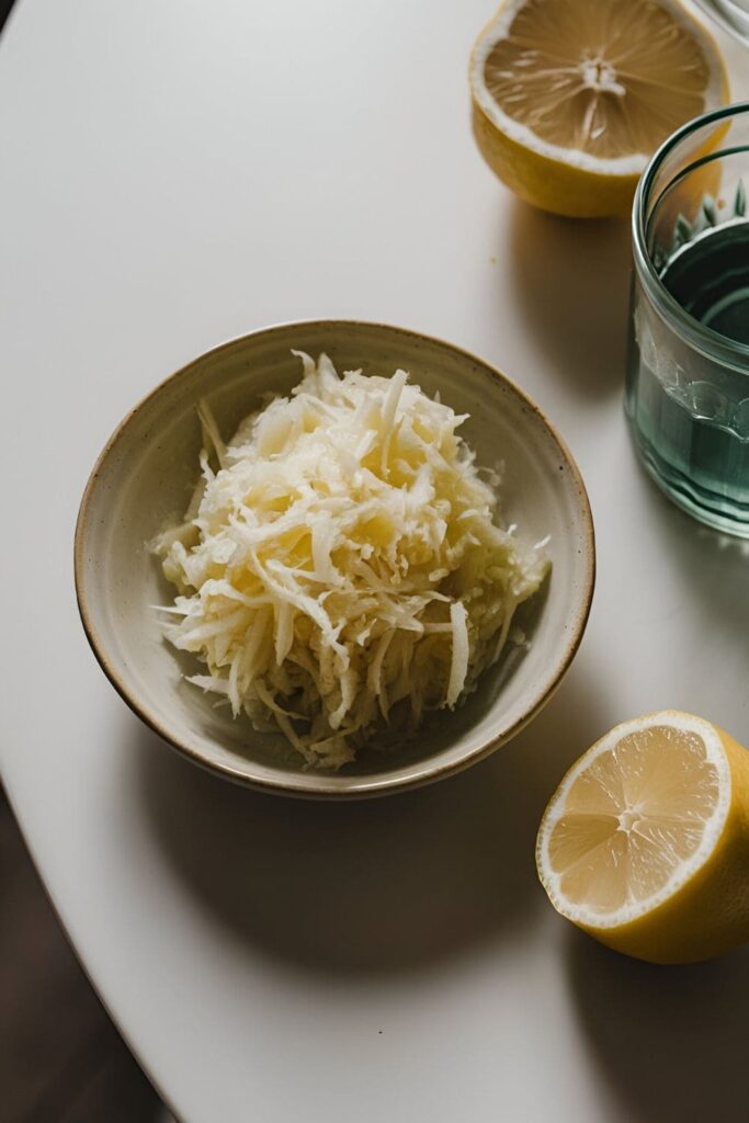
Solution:
[[[656,483],[749,538],[749,103],[689,121],[634,198],[625,407]]]

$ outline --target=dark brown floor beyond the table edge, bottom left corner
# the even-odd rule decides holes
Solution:
[[[1,788],[0,1103],[3,1123],[163,1117],[71,951]]]

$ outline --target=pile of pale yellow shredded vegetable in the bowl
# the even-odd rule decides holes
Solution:
[[[228,445],[201,404],[202,478],[155,549],[179,590],[166,636],[208,667],[189,681],[337,769],[377,727],[463,701],[548,562],[494,521],[465,417],[403,371],[294,354],[302,382]]]

